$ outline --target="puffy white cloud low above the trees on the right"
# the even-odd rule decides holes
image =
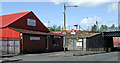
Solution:
[[[97,17],[97,16],[94,16],[94,17],[87,17],[87,18],[83,18],[81,21],[80,21],[80,25],[82,26],[90,26],[90,25],[93,25],[93,24],[96,24],[96,21],[99,23],[102,22],[102,18],[101,17]]]

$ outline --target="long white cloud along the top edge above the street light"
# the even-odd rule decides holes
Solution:
[[[108,2],[118,2],[119,0],[50,0],[55,4],[67,2],[69,5],[78,5],[80,7],[96,7]]]

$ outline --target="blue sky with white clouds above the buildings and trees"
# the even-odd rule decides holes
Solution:
[[[2,2],[2,15],[33,11],[35,15],[48,26],[63,27],[63,10],[64,3],[66,6],[77,5],[78,7],[66,8],[66,26],[74,28],[74,25],[80,25],[87,29],[93,26],[98,21],[100,25],[118,26],[118,0],[76,0],[71,2],[60,0],[49,1],[5,1]]]

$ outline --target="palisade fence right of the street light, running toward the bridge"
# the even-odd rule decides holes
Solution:
[[[73,41],[72,38],[66,38],[66,47],[70,51],[111,52],[115,50],[114,47],[104,47],[104,45],[99,46],[99,43],[92,44],[96,45],[96,47],[91,46],[88,42],[86,42],[86,39],[74,39]]]

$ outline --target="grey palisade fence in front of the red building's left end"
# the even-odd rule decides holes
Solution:
[[[19,38],[15,37],[0,37],[2,43],[2,55],[6,54],[18,54],[19,53]]]

